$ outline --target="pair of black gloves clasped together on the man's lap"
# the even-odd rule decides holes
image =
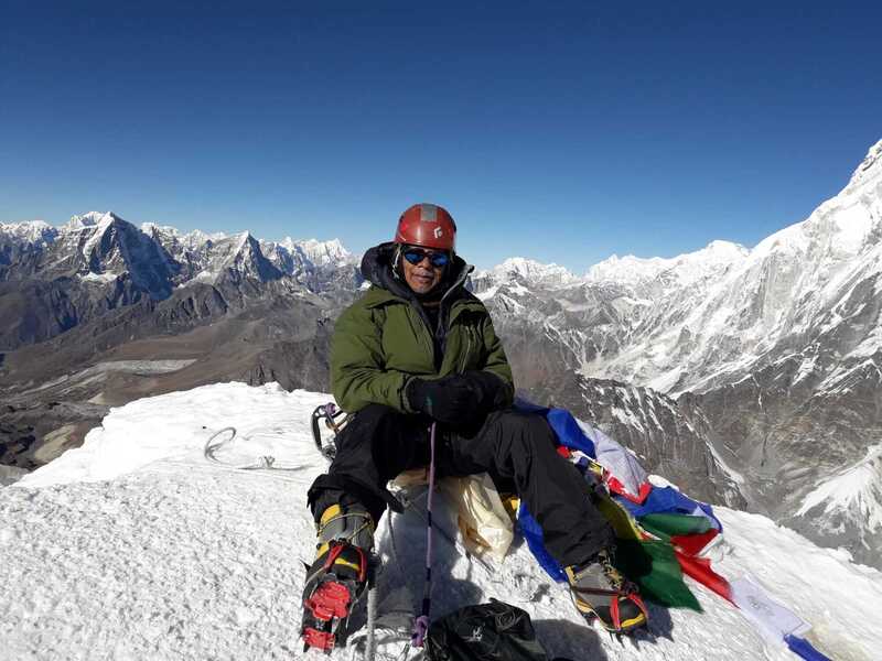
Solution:
[[[415,411],[461,425],[493,409],[502,387],[502,379],[490,372],[470,371],[434,381],[411,379],[406,394]]]

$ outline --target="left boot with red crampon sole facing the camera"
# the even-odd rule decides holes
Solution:
[[[369,579],[374,521],[361,505],[332,505],[318,523],[315,561],[303,587],[304,651],[330,652],[346,635],[346,622]]]

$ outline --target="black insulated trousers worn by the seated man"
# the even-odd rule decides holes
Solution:
[[[427,419],[389,407],[372,404],[358,411],[336,441],[327,475],[319,476],[309,491],[316,519],[331,505],[355,500],[379,521],[390,498],[387,483],[429,465]],[[487,473],[495,484],[512,486],[562,566],[582,564],[614,543],[589,485],[557,453],[555,433],[539,414],[495,411],[471,430],[439,425],[435,472],[438,477]]]

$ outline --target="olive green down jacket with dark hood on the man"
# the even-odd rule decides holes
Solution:
[[[467,370],[486,370],[502,379],[498,408],[514,398],[512,368],[484,304],[463,289],[471,272],[454,258],[441,301],[439,326],[430,330],[416,295],[392,275],[392,243],[372,248],[362,273],[372,286],[336,322],[331,340],[331,389],[337,404],[354,413],[385,404],[410,413],[405,397],[413,377],[435,379]]]

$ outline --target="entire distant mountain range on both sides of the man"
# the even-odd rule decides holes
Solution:
[[[112,213],[0,224],[2,460],[44,463],[146,393],[228,379],[326,390],[358,261],[336,240],[182,234]],[[584,274],[514,258],[471,288],[527,395],[693,495],[880,566],[880,274],[882,141],[839,195],[753,249],[714,241]]]

